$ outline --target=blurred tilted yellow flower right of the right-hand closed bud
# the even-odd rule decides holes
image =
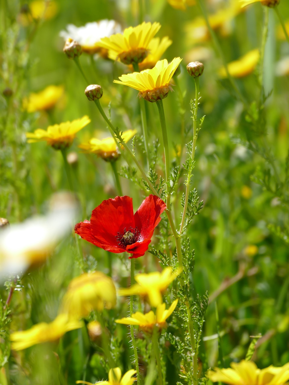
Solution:
[[[232,77],[244,77],[251,74],[260,59],[259,49],[249,51],[238,60],[234,60],[228,64],[228,70]],[[222,67],[219,70],[219,76],[224,78],[227,77],[225,68]]]

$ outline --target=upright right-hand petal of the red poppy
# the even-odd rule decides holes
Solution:
[[[156,195],[150,194],[144,199],[138,211],[134,214],[134,223],[141,233],[139,238],[141,241],[151,237],[151,232],[160,222],[160,215],[165,209],[165,202]]]

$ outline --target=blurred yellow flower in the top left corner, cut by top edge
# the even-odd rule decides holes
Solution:
[[[28,8],[22,7],[19,15],[20,23],[26,27],[33,20],[44,19],[49,20],[56,15],[58,5],[50,0],[35,0],[29,3]]]

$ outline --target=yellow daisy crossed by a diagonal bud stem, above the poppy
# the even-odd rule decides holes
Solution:
[[[125,142],[129,141],[136,134],[136,130],[127,130],[122,134],[122,138]],[[104,139],[91,138],[88,143],[82,143],[79,148],[97,154],[105,161],[111,161],[117,159],[119,156],[118,147],[113,137],[107,137]]]

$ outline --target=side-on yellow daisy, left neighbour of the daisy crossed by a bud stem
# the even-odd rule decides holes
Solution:
[[[80,131],[88,123],[90,123],[90,119],[85,115],[81,119],[72,122],[49,126],[47,131],[38,128],[34,133],[27,132],[26,137],[29,138],[28,143],[46,141],[55,150],[59,150],[71,146],[76,132]]]

